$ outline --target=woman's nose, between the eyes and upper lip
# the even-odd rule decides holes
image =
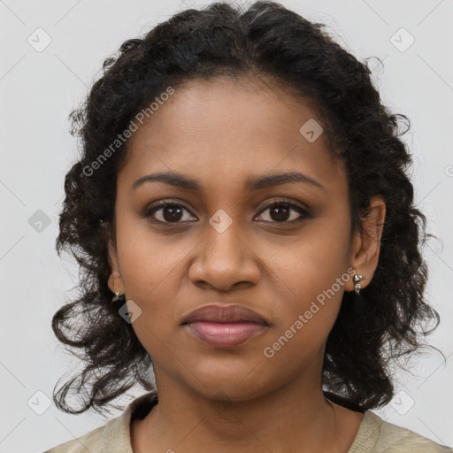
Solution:
[[[220,291],[240,283],[257,285],[261,274],[259,257],[251,249],[246,234],[236,227],[238,224],[233,221],[226,229],[218,228],[215,223],[207,225],[189,268],[188,276],[194,284]]]

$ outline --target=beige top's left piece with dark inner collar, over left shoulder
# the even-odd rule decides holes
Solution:
[[[142,418],[157,403],[157,393],[151,391],[139,396],[127,405],[123,413],[111,419],[104,426],[83,434],[77,439],[61,443],[44,453],[110,453],[111,451],[132,451],[130,424],[134,418]]]

